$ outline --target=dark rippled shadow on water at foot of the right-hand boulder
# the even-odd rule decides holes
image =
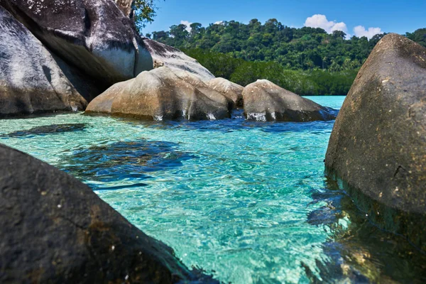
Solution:
[[[371,224],[337,182],[327,180],[312,198],[327,205],[310,212],[308,223],[332,231],[323,244],[329,260],[317,260],[320,277],[302,264],[312,283],[426,283],[425,253]]]

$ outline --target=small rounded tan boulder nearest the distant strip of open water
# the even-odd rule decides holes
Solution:
[[[332,109],[322,107],[268,80],[258,80],[243,91],[244,115],[256,121],[327,121]]]

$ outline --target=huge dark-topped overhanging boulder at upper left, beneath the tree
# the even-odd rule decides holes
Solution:
[[[127,15],[111,0],[0,0],[50,50],[104,89],[153,68]]]

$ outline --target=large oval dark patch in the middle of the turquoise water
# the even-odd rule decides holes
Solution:
[[[141,139],[74,149],[64,155],[61,168],[94,190],[118,190],[146,186],[141,181],[151,178],[149,173],[178,168],[192,158],[195,155],[178,151],[176,143]],[[119,183],[99,187],[99,182]]]

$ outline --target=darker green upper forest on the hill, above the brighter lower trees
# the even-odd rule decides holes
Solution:
[[[346,38],[342,31],[327,33],[322,28],[290,28],[277,19],[266,23],[224,21],[203,27],[200,23],[171,26],[152,33],[154,40],[180,49],[226,53],[247,61],[275,61],[290,70],[324,69],[332,72],[361,67],[384,34]],[[408,38],[426,46],[426,29],[407,33]]]

